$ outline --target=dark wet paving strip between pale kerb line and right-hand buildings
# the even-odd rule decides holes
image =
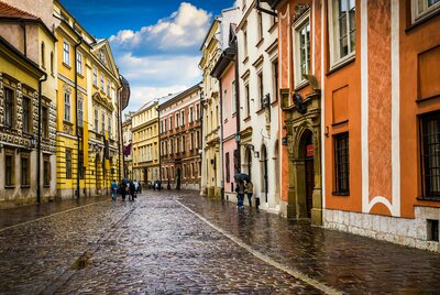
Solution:
[[[440,255],[184,194],[179,201],[278,263],[350,294],[439,294]]]

